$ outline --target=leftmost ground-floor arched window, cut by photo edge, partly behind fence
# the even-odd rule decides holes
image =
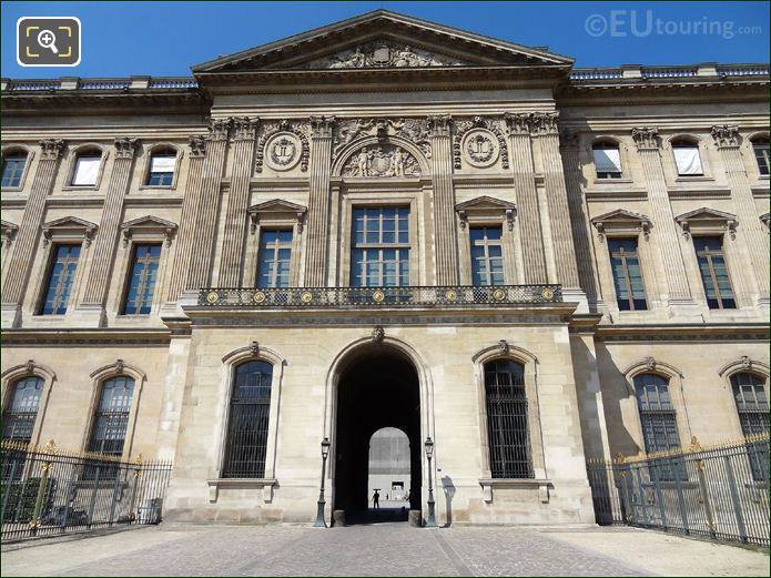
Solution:
[[[2,438],[21,444],[32,440],[34,420],[38,417],[43,381],[37,375],[22,377],[13,384],[10,399],[2,413]],[[13,452],[2,463],[2,479],[19,479],[22,475],[26,453]]]

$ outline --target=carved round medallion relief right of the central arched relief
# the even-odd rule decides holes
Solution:
[[[501,169],[508,170],[508,145],[500,120],[474,116],[455,121],[453,165],[456,170],[463,169],[464,162],[475,169],[488,169],[499,159]]]

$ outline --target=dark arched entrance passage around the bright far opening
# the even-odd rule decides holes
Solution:
[[[409,438],[410,508],[420,508],[420,387],[413,362],[385,344],[352,352],[339,369],[335,412],[334,509],[361,519],[368,509],[372,435],[395,427]]]

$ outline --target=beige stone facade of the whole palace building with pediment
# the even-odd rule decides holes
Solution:
[[[129,375],[123,455],[174,460],[168,519],[312,521],[324,437],[328,519],[352,467],[342,448],[357,447],[336,434],[355,425],[408,433],[424,510],[432,437],[439,524],[450,507],[454,524],[590,524],[586,458],[645,449],[636,375],[668,379],[683,446],[742,435],[737,372],[768,398],[769,178],[753,149],[768,148],[767,64],[574,69],[376,11],[193,74],[2,80],[3,163],[26,159],[2,190],[2,399],[43,379],[31,443],[85,448],[100,387]],[[702,174],[679,174],[683,139]],[[617,178],[598,174],[597,142],[616,143]],[[160,150],[173,178],[151,185]],[[98,172],[73,186],[83,151]],[[353,212],[382,206],[409,209],[415,288],[348,292]],[[498,290],[470,287],[478,226],[501,232]],[[277,227],[292,232],[293,288],[255,290],[260,240]],[[736,307],[710,308],[703,234],[723,240]],[[619,308],[617,237],[637,240],[643,311]],[[41,314],[62,243],[80,246],[69,302]],[[161,246],[154,290],[149,314],[126,315],[140,243]],[[379,424],[343,415],[367,359],[383,383],[398,366],[414,422],[390,406],[373,409]],[[529,477],[490,464],[496,359],[523,367]],[[264,471],[224,477],[248,361],[273,367]]]

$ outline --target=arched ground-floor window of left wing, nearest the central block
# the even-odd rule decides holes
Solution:
[[[89,452],[120,457],[129,427],[134,379],[118,375],[104,382],[94,412]]]

